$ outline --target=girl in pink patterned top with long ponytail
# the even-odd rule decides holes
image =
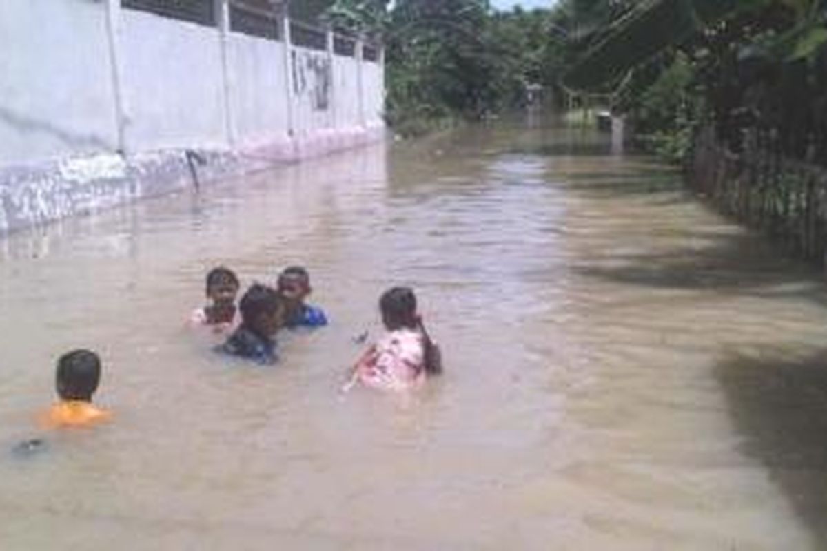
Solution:
[[[439,348],[416,311],[414,291],[394,287],[382,295],[379,307],[388,333],[362,354],[343,390],[357,381],[382,390],[407,390],[421,386],[426,374],[442,373]]]

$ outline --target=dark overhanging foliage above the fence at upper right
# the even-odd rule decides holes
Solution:
[[[564,83],[612,89],[641,131],[688,145],[712,125],[736,152],[827,159],[827,1],[641,2],[595,35],[570,40]]]

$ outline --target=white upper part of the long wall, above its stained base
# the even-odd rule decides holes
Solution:
[[[122,146],[306,156],[381,123],[380,65],[285,47],[118,0],[0,0],[0,170]]]

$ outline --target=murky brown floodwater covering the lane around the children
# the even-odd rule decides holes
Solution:
[[[332,325],[274,368],[211,353],[183,321],[215,264],[305,264]],[[447,372],[340,396],[394,284]],[[825,549],[825,328],[817,274],[671,169],[537,121],[17,233],[0,549]],[[79,346],[116,418],[41,435]]]

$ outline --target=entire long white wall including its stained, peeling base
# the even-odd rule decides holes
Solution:
[[[382,138],[381,64],[231,31],[217,5],[203,26],[0,1],[0,234]]]

